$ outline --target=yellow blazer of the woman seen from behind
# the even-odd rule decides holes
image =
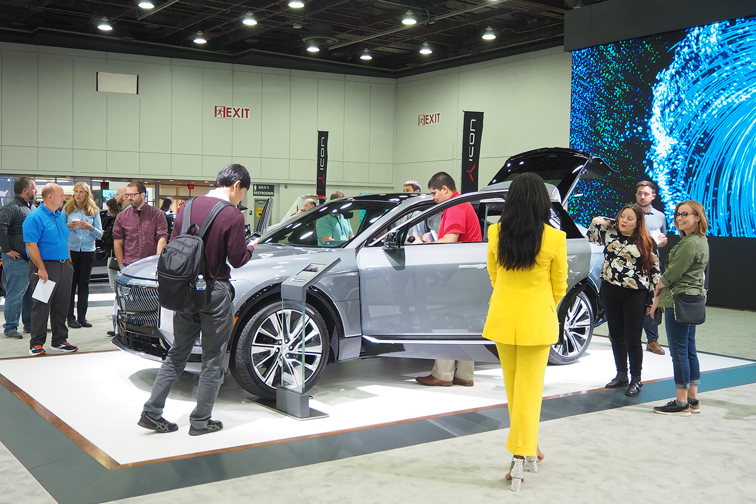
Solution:
[[[553,345],[559,337],[556,305],[567,289],[567,235],[544,224],[541,252],[530,270],[497,263],[500,224],[488,227],[488,301],[483,337],[507,345]]]

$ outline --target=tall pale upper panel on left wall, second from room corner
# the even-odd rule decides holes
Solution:
[[[345,83],[344,91],[344,161],[370,161],[370,84]],[[347,168],[344,167],[344,180]],[[366,180],[366,179],[363,179]]]

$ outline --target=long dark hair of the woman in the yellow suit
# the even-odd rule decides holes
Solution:
[[[550,217],[551,200],[544,179],[535,173],[515,178],[499,219],[498,264],[507,270],[533,267]]]

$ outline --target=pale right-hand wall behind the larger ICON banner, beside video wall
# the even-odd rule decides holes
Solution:
[[[568,147],[570,76],[570,54],[553,48],[398,79],[395,187],[442,170],[459,183],[464,110],[484,113],[479,187],[513,154]]]

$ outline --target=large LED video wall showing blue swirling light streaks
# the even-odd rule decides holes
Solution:
[[[756,237],[756,18],[574,51],[570,144],[620,171],[578,185],[581,224],[649,178],[671,229],[696,199],[710,235]]]

